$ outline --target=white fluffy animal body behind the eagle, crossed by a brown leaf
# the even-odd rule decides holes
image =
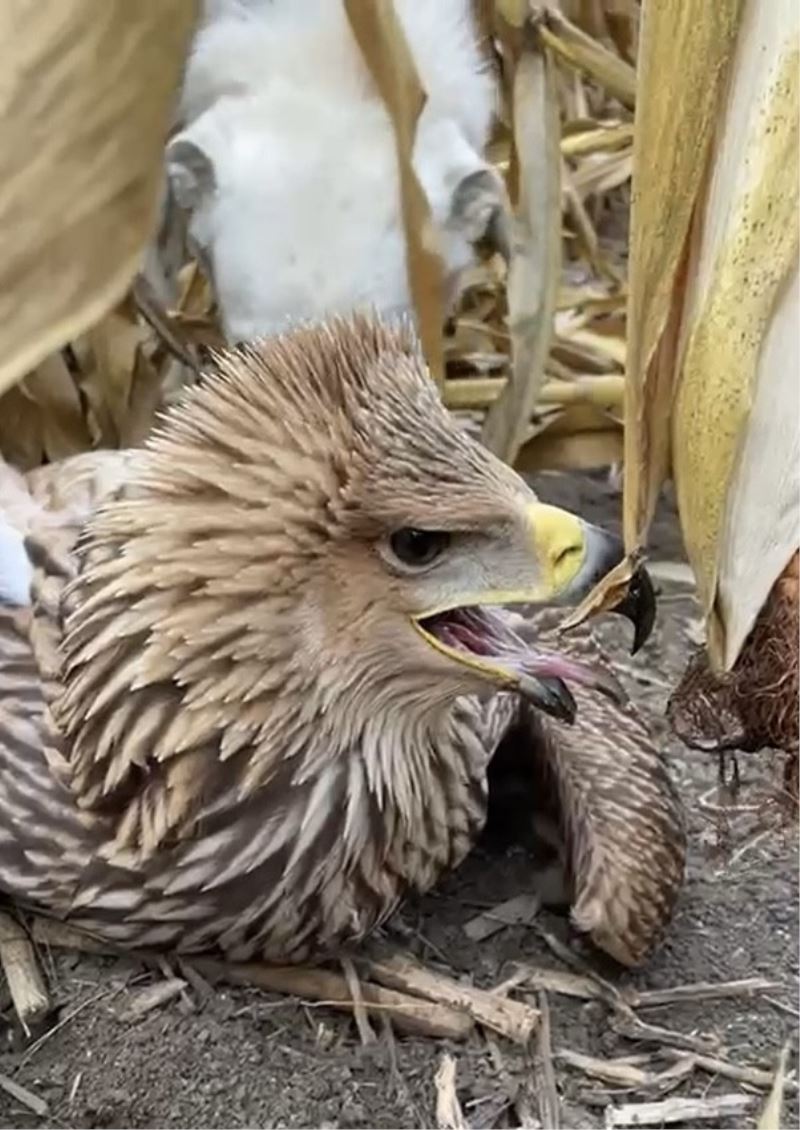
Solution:
[[[469,0],[395,10],[428,96],[414,160],[452,292],[502,193],[482,158],[494,80]],[[205,14],[167,168],[227,337],[364,305],[408,310],[393,130],[344,5],[206,0]]]

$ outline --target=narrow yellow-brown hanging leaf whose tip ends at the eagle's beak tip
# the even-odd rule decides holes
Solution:
[[[634,133],[625,427],[625,544],[642,545],[669,468],[686,244],[741,0],[645,0]],[[680,75],[680,82],[673,76]]]

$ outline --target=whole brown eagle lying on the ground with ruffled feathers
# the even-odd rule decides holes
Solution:
[[[144,447],[2,476],[14,902],[132,948],[322,958],[458,867],[511,742],[575,924],[652,950],[679,800],[591,634],[546,607],[621,547],[449,415],[409,324],[224,351]]]

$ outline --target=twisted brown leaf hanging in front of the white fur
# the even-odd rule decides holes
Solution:
[[[438,384],[444,380],[444,276],[431,208],[414,171],[417,122],[425,92],[392,0],[345,0],[345,9],[364,60],[394,128],[400,173],[408,276],[425,358]]]

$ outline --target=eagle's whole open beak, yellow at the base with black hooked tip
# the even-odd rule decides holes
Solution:
[[[611,697],[617,684],[608,675],[558,652],[542,652],[514,631],[506,605],[579,603],[623,559],[623,545],[575,514],[533,503],[528,506],[528,567],[518,576],[498,577],[501,585],[466,593],[446,607],[414,618],[428,644],[496,686],[516,690],[540,710],[572,722],[575,699],[569,684]],[[634,651],[649,637],[655,619],[655,594],[642,568],[628,593],[612,609],[634,624]]]

